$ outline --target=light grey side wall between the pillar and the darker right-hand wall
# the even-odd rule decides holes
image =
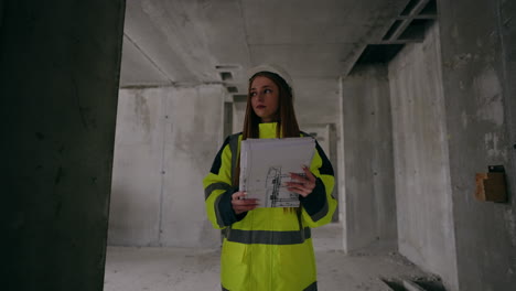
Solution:
[[[389,63],[399,252],[458,290],[439,28]]]

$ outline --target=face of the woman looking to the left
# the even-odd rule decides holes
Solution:
[[[257,76],[251,83],[249,95],[255,114],[261,122],[276,121],[279,107],[279,88],[264,76]]]

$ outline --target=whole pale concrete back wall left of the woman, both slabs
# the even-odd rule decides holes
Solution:
[[[223,142],[219,85],[121,89],[109,244],[213,247],[203,177]]]

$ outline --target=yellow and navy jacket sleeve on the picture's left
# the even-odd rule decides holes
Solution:
[[[232,206],[232,194],[238,188],[232,184],[232,151],[226,138],[213,161],[209,173],[203,180],[206,214],[213,227],[223,229],[245,216],[236,215]]]

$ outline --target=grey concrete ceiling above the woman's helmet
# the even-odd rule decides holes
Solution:
[[[261,63],[283,66],[295,86],[336,80],[407,2],[127,0],[121,86],[207,83],[245,94],[246,71]]]

